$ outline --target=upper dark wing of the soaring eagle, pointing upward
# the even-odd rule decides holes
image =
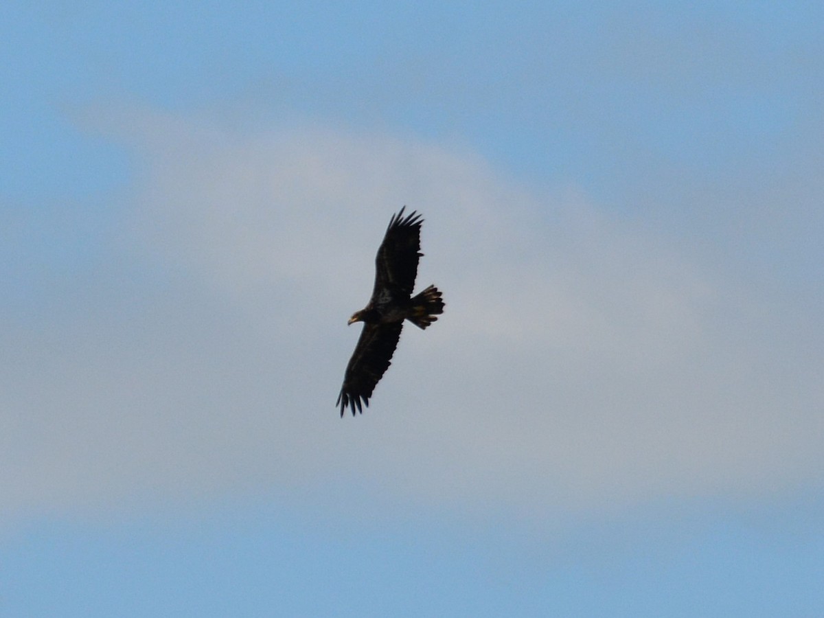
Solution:
[[[420,253],[420,215],[412,211],[404,218],[404,208],[394,215],[386,236],[375,257],[375,288],[372,297],[378,297],[386,288],[396,288],[407,297],[412,296],[414,279],[418,276]]]

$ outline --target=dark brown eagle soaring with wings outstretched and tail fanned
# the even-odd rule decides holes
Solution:
[[[340,405],[341,418],[347,406],[354,416],[356,410],[363,414],[362,405],[369,405],[375,385],[391,364],[404,320],[425,329],[443,313],[441,293],[434,285],[412,296],[418,260],[424,255],[420,253],[420,225],[424,220],[417,211],[404,217],[405,208],[392,216],[378,247],[372,297],[366,307],[349,318],[349,324],[364,324],[335,404]]]

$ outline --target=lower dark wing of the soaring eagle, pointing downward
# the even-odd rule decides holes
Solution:
[[[389,368],[392,354],[400,339],[400,329],[403,322],[391,322],[389,324],[364,324],[358,344],[349,359],[344,374],[344,386],[340,389],[340,395],[335,405],[340,404],[340,415],[344,415],[346,406],[352,409],[355,415],[355,407],[358,412],[363,412],[363,405],[369,405],[369,397],[375,390],[375,385],[381,379],[386,369]]]

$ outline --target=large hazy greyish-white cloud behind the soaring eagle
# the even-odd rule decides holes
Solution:
[[[340,485],[540,515],[820,482],[820,323],[684,239],[434,143],[113,124],[144,165],[119,257],[157,281],[115,269],[85,316],[3,341],[7,513]],[[447,311],[340,420],[345,319],[403,204]]]

